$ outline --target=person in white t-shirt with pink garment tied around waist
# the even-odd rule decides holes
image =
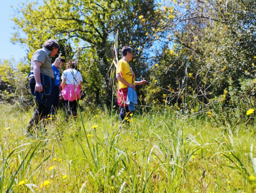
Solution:
[[[66,70],[63,71],[61,76],[62,97],[65,100],[66,107],[66,121],[68,115],[73,117],[77,116],[77,104],[81,96],[82,89],[82,75],[77,70],[76,62],[68,62]]]

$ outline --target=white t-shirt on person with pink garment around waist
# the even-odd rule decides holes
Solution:
[[[66,78],[66,84],[80,84],[80,81],[82,82],[82,75],[79,71],[75,69],[67,69],[64,70],[61,75],[61,80]]]

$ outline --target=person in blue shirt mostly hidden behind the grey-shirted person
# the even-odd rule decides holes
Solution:
[[[65,64],[65,59],[62,59],[62,57],[57,57],[55,62],[52,64],[52,70],[54,74],[54,89],[53,89],[53,94],[52,98],[53,100],[53,105],[51,109],[51,116],[53,117],[54,111],[56,111],[59,107],[59,93],[61,92],[60,90],[60,73],[59,73],[59,66],[63,66]]]

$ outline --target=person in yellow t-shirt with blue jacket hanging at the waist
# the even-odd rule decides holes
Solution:
[[[129,61],[133,59],[133,49],[129,46],[122,48],[122,59],[119,60],[119,68],[116,69],[116,78],[118,80],[117,89],[117,103],[120,106],[119,120],[123,120],[127,112],[129,112],[128,105],[126,104],[128,87],[135,90],[136,85],[144,85],[146,81],[135,81],[133,69],[129,65]]]

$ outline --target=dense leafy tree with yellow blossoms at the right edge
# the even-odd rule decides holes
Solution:
[[[173,1],[168,6],[174,18],[154,61],[158,67],[148,73],[167,90],[179,86],[174,94],[169,92],[170,99],[177,96],[176,102],[185,89],[207,103],[222,96],[230,80],[232,88],[241,89],[240,79],[255,79],[255,1]],[[159,100],[161,92],[155,93]]]

